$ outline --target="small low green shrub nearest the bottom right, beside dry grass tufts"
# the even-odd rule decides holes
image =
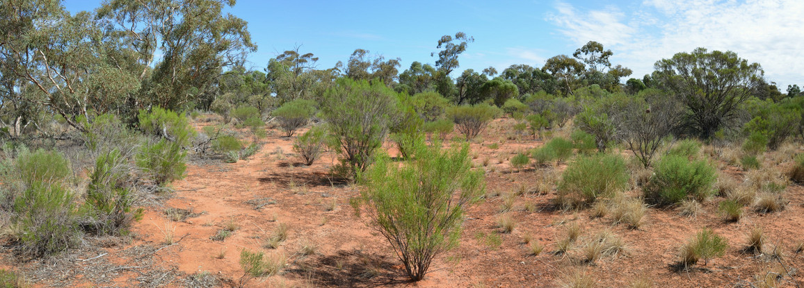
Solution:
[[[728,241],[724,237],[712,232],[712,229],[704,228],[682,247],[681,264],[691,266],[699,259],[704,259],[706,265],[709,259],[726,254],[726,248]]]

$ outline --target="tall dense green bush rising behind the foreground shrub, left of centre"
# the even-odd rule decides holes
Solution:
[[[371,164],[396,123],[396,102],[396,92],[379,81],[338,79],[326,91],[322,116],[341,146],[344,170],[363,171]]]

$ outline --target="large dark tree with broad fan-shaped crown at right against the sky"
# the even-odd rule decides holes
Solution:
[[[687,128],[704,139],[728,128],[761,82],[762,68],[732,51],[697,48],[654,64],[653,78],[672,91],[687,107]]]

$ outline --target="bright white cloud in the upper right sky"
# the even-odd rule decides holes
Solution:
[[[576,44],[594,40],[639,77],[653,63],[706,47],[757,62],[784,91],[804,82],[804,2],[800,0],[646,0],[638,10],[579,10],[559,2],[548,19]]]

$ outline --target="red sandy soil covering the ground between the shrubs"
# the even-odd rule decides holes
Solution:
[[[114,270],[107,270],[111,281],[102,285],[146,286],[135,278],[157,277],[158,274],[148,274],[148,270],[162,269],[174,275],[167,286],[184,286],[183,278],[201,272],[223,279],[220,285],[230,286],[238,283],[244,274],[239,264],[240,250],[249,249],[266,254],[282,251],[289,257],[280,274],[245,283],[253,287],[552,287],[561,286],[560,279],[572,270],[585,270],[597,286],[602,287],[629,286],[638,278],[648,278],[656,287],[750,286],[757,281],[755,276],[764,275],[766,268],[779,266],[773,258],[744,252],[746,234],[759,225],[765,229],[768,239],[766,249],[778,246],[785,255],[781,262],[786,269],[804,268],[804,254],[794,252],[794,247],[804,241],[804,189],[799,185],[788,185],[785,195],[790,203],[779,213],[761,214],[746,208],[740,221],[725,222],[717,213],[717,203],[722,198],[716,198],[705,202],[704,213],[695,218],[680,216],[674,209],[648,209],[639,229],[613,224],[610,217],[592,218],[589,210],[553,209],[551,201],[556,197],[555,192],[527,193],[516,197],[511,212],[517,221],[515,229],[512,233],[502,233],[496,220],[503,195],[520,187],[531,189],[544,173],[544,168],[532,165],[520,172],[511,168],[508,159],[516,152],[542,144],[529,136],[511,136],[507,131],[511,131],[512,124],[512,120],[496,120],[471,144],[471,151],[476,155],[473,161],[486,169],[486,190],[490,196],[468,209],[460,246],[437,257],[421,282],[407,282],[388,242],[355,217],[349,199],[358,195],[359,188],[330,181],[327,172],[334,164],[334,155],[328,153],[312,166],[304,166],[293,154],[295,137],[285,138],[273,130],[260,151],[248,160],[234,164],[219,161],[190,164],[187,177],[173,184],[176,192],[164,202],[164,207],[146,209],[142,221],[133,226],[133,241],[100,249],[97,254],[104,251],[108,254],[81,265],[91,266],[92,262],[106,259],[104,261],[118,265],[137,266],[137,259],[125,256],[126,249],[149,246],[153,247],[149,252],[154,255],[146,268],[109,269]],[[492,143],[498,143],[499,147],[489,148]],[[390,144],[386,146],[393,150]],[[482,162],[486,158],[489,163],[484,166]],[[766,163],[764,167],[783,169],[789,164],[777,167]],[[739,168],[726,170],[728,176],[742,181]],[[495,196],[494,192],[502,195]],[[638,193],[630,191],[633,195]],[[248,203],[266,198],[275,203],[260,209]],[[524,209],[527,203],[535,205],[535,211]],[[168,208],[187,209],[200,215],[170,221],[164,213]],[[602,258],[593,265],[580,261],[577,247],[568,254],[552,253],[556,250],[556,241],[564,237],[567,223],[572,221],[582,228],[579,243],[585,237],[610,229],[626,242],[625,252]],[[232,236],[224,241],[212,241],[210,237],[224,229],[228,222],[237,226]],[[278,249],[265,249],[263,244],[280,223],[289,225],[288,240]],[[726,255],[712,259],[706,266],[702,261],[691,270],[673,269],[679,247],[704,227],[728,238],[730,245]],[[178,243],[166,245],[166,233],[173,233]],[[523,243],[526,234],[545,245],[542,254],[531,256],[528,253]],[[496,235],[502,244],[488,245],[483,235]],[[304,243],[314,243],[315,253],[299,254]],[[153,252],[155,249],[159,250]],[[219,254],[224,257],[219,258]],[[92,255],[96,254],[86,258]],[[38,284],[59,286],[59,282],[69,281],[60,286],[92,286],[92,280],[82,279],[79,276],[42,280]],[[800,286],[802,281],[802,273],[796,273],[793,279],[784,278],[781,286]]]

